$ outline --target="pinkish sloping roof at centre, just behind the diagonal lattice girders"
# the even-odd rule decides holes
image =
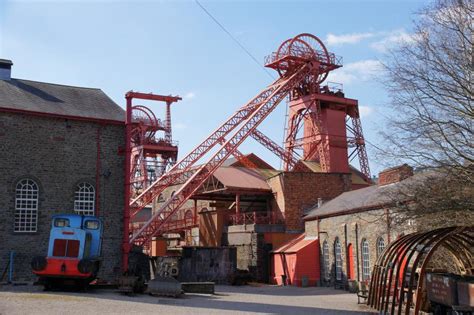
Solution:
[[[263,177],[254,169],[245,167],[219,167],[213,176],[228,188],[271,191]]]

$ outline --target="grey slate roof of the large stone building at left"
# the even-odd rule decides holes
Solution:
[[[22,79],[0,80],[1,109],[125,121],[125,111],[100,89]]]

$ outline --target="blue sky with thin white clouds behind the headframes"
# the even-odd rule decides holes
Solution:
[[[195,1],[0,0],[0,58],[13,61],[14,78],[101,88],[122,107],[129,90],[182,96],[172,120],[183,156],[273,81],[264,56],[287,38],[312,33],[343,57],[328,80],[359,101],[364,136],[380,143],[390,111],[381,63],[390,47],[409,38],[426,1],[199,2],[260,65]],[[161,104],[136,104],[164,117]],[[282,143],[284,125],[282,103],[259,129]],[[376,174],[390,161],[376,160],[371,144]],[[280,166],[251,139],[240,151]]]

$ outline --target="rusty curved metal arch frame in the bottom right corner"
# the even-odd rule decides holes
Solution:
[[[400,237],[377,259],[372,272],[367,304],[384,314],[389,313],[390,306],[390,314],[401,315],[403,310],[405,314],[410,314],[414,302],[414,314],[419,314],[425,271],[432,255],[442,246],[454,257],[459,269],[472,274],[473,234],[474,226],[463,226],[440,228]],[[409,266],[411,272],[407,282]],[[415,279],[418,269],[419,277]],[[416,298],[413,301],[414,296]]]

